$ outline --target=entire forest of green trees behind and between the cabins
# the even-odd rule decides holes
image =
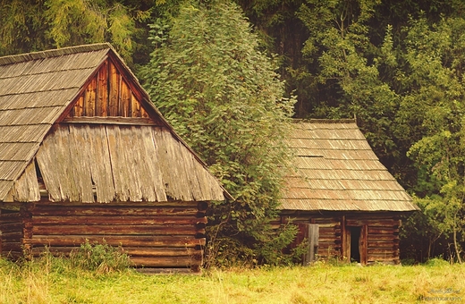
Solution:
[[[461,263],[465,246],[461,0],[0,0],[0,55],[110,42],[235,198],[211,255],[276,253],[289,118],[353,118],[421,212],[401,258]],[[273,149],[266,148],[274,139]]]

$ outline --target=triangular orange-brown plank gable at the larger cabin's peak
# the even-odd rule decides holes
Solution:
[[[114,61],[108,57],[96,75],[85,85],[80,97],[65,119],[72,117],[140,117],[148,118],[138,94],[131,89]],[[162,122],[154,122],[162,125]]]

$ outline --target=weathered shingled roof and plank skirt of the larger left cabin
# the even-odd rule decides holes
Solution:
[[[136,95],[132,96],[135,101],[128,97],[129,102],[144,109],[139,110],[143,113],[139,121],[145,117],[148,123],[117,128],[112,120],[91,126],[65,123],[79,109],[77,103],[89,81],[100,80],[99,69],[109,57],[121,72],[119,83]],[[112,116],[110,112],[106,116]],[[96,138],[108,142],[107,147],[98,149],[91,140]],[[62,139],[67,141],[58,142]],[[104,160],[99,167],[95,157]],[[82,163],[73,165],[76,162]],[[89,187],[97,191],[99,202],[220,200],[228,195],[106,43],[0,57],[0,202],[37,201],[36,168],[40,166],[52,200],[92,200],[83,194]]]

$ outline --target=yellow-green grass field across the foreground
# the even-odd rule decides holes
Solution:
[[[0,259],[0,303],[465,303],[465,266],[334,266],[98,274]]]

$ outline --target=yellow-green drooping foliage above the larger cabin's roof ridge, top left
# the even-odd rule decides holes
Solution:
[[[128,63],[150,11],[113,0],[2,0],[0,55],[111,42]],[[142,3],[140,3],[142,6]]]

